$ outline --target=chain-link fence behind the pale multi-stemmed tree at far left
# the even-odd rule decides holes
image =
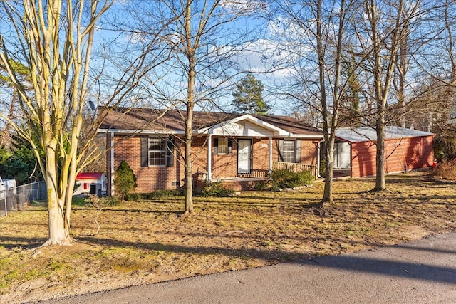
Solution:
[[[46,183],[34,182],[0,192],[0,216],[23,209],[31,201],[46,199]]]

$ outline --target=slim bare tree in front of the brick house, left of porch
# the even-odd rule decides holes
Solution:
[[[185,168],[185,214],[193,209],[192,152],[194,110],[221,109],[222,93],[229,93],[234,75],[239,73],[242,52],[253,40],[252,29],[240,28],[239,19],[264,9],[262,1],[131,1],[131,14],[138,19],[141,39],[160,37],[162,48],[170,56],[160,70],[160,81],[150,85],[150,98],[155,105],[174,108],[180,113],[185,135],[176,137],[175,145],[184,147],[179,160]],[[163,25],[162,33],[154,30]],[[247,32],[247,31],[250,31]],[[180,149],[175,152],[180,153]]]

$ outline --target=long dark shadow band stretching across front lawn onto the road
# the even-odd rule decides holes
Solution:
[[[41,245],[46,239],[26,239],[26,238],[12,238],[1,237],[2,243],[8,241],[19,241],[27,243],[26,245],[11,245],[12,247],[33,248]],[[440,255],[456,254],[456,250],[429,248],[426,246],[409,246],[407,243],[393,246],[393,248],[400,248],[405,251],[400,255],[393,255],[393,260],[372,257],[370,253],[351,253],[340,256],[321,256],[312,258],[311,255],[306,253],[291,253],[280,249],[266,248],[222,248],[217,246],[182,246],[165,243],[137,243],[130,241],[119,241],[115,239],[103,239],[98,237],[83,237],[78,241],[85,243],[92,243],[100,246],[113,246],[120,248],[138,248],[146,251],[167,251],[170,253],[194,253],[201,255],[223,255],[232,256],[235,258],[258,258],[271,263],[293,261],[294,263],[304,264],[307,266],[316,266],[319,268],[333,268],[342,269],[346,271],[353,271],[357,273],[375,273],[381,276],[389,276],[393,278],[407,278],[417,279],[420,281],[432,281],[437,283],[450,283],[456,284],[456,268],[435,266],[432,263],[414,263],[408,257],[412,254],[420,254],[423,252],[435,253]],[[333,241],[337,241],[336,239]],[[8,248],[8,245],[4,245]],[[383,247],[382,251],[388,250],[388,247]],[[415,251],[415,252],[413,252]],[[418,251],[418,252],[417,252]],[[390,253],[381,256],[391,256]],[[403,261],[398,261],[398,257]],[[440,256],[442,258],[442,256]],[[435,257],[438,261],[439,257]]]

